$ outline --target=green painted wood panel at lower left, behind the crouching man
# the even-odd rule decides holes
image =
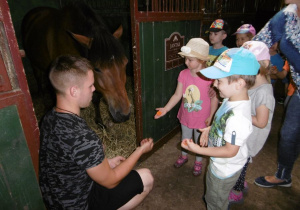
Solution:
[[[16,106],[0,110],[0,209],[45,209]]]

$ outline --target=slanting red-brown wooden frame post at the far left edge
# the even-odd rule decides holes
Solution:
[[[38,123],[33,111],[33,105],[31,101],[31,96],[29,94],[28,84],[22,64],[22,60],[19,54],[19,47],[15,37],[15,31],[12,25],[12,20],[10,16],[10,10],[8,8],[7,1],[0,1],[0,13],[3,18],[4,31],[3,42],[6,43],[4,49],[1,50],[5,67],[13,74],[11,79],[11,84],[14,90],[10,94],[16,94],[17,101],[11,101],[5,99],[2,96],[1,107],[11,104],[17,104],[18,111],[20,114],[20,119],[22,127],[24,129],[24,134],[27,140],[29,150],[31,152],[31,158],[33,161],[34,169],[38,177],[38,149],[39,149],[39,129]],[[4,56],[5,55],[5,56]],[[16,83],[16,84],[15,84]],[[19,94],[19,92],[22,92]],[[12,97],[13,98],[13,97]],[[12,99],[10,98],[10,99]]]

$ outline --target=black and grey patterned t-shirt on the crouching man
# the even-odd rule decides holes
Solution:
[[[48,209],[87,209],[93,185],[86,169],[104,160],[102,142],[74,114],[46,114],[40,127],[40,188]]]

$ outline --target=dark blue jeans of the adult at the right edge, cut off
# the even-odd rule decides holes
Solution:
[[[287,106],[280,137],[278,169],[275,176],[289,181],[300,152],[300,97],[297,93],[291,97]]]

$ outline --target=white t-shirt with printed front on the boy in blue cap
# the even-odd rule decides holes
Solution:
[[[225,179],[243,168],[248,158],[246,140],[252,129],[251,100],[224,99],[215,114],[209,132],[209,146],[222,147],[229,142],[240,146],[240,149],[232,158],[210,158],[212,161],[210,170],[216,177]]]

